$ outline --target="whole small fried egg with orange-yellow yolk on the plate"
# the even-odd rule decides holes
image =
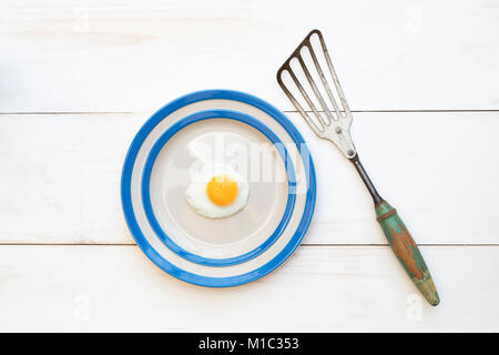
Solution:
[[[248,194],[246,179],[224,168],[194,176],[185,190],[185,200],[198,214],[222,219],[241,211],[246,205]]]

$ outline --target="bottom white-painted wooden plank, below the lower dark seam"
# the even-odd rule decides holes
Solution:
[[[422,252],[438,307],[384,246],[301,247],[261,281],[214,290],[164,274],[135,246],[3,245],[0,331],[499,331],[499,248]]]

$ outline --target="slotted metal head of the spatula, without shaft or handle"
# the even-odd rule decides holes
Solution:
[[[314,37],[317,37],[319,42],[315,48],[312,43]],[[306,59],[313,64],[307,65]],[[291,80],[283,78],[286,74]],[[335,143],[348,159],[356,155],[350,136],[352,112],[319,30],[313,30],[299,43],[277,71],[277,81],[315,134]],[[333,90],[329,81],[334,84]],[[296,98],[292,91],[299,93],[303,100]],[[338,106],[338,101],[342,106]]]

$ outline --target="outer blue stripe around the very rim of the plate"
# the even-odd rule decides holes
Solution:
[[[286,130],[289,136],[295,142],[298,151],[302,154],[302,160],[307,169],[307,195],[305,201],[305,210],[299,222],[299,225],[291,239],[291,241],[286,244],[286,246],[269,262],[265,265],[251,271],[248,273],[235,276],[227,277],[210,277],[202,276],[197,274],[193,274],[186,272],[166,261],[162,255],[160,255],[154,247],[149,243],[144,234],[142,233],[139,223],[136,221],[135,214],[133,212],[132,206],[132,195],[131,195],[131,181],[132,181],[132,171],[135,164],[136,155],[146,139],[146,136],[151,133],[151,131],[169,114],[189,105],[194,102],[203,101],[203,100],[233,100],[243,102],[249,105],[253,105],[265,113],[273,116],[281,125]],[[132,144],[130,145],[129,152],[126,154],[123,172],[121,176],[121,200],[123,206],[123,213],[129,225],[130,232],[132,233],[135,242],[141,247],[141,250],[151,258],[153,263],[155,263],[159,267],[161,267],[166,273],[175,276],[182,281],[201,285],[201,286],[211,286],[211,287],[226,287],[226,286],[235,286],[252,282],[256,278],[259,278],[276,267],[278,267],[285,260],[287,260],[296,247],[299,245],[303,236],[305,235],[308,225],[310,223],[312,216],[314,214],[315,207],[315,197],[316,197],[316,178],[315,178],[315,169],[314,163],[312,161],[312,156],[309,154],[308,149],[305,145],[305,141],[303,140],[299,132],[293,125],[293,123],[276,108],[271,105],[269,103],[249,95],[244,92],[232,91],[232,90],[206,90],[194,92],[184,97],[181,97],[171,103],[161,108],[156,113],[154,113],[145,124],[139,130],[139,133],[135,135]]]

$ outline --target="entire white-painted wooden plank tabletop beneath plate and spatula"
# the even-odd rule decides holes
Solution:
[[[499,331],[497,1],[0,3],[0,331]],[[441,296],[418,296],[367,191],[275,73],[326,37],[353,134]],[[135,245],[132,138],[191,91],[246,91],[309,143],[318,196],[291,260],[248,285],[180,282]]]

